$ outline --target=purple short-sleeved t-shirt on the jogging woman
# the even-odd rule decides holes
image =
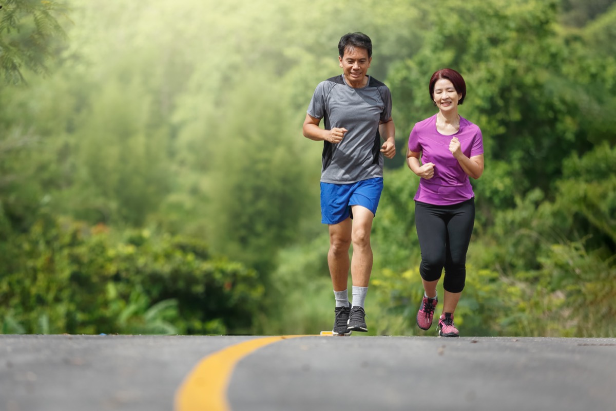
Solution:
[[[408,149],[421,152],[421,163],[434,163],[434,177],[421,178],[415,193],[415,200],[432,205],[452,205],[469,200],[472,192],[468,174],[449,151],[453,137],[460,140],[461,150],[466,157],[484,153],[481,130],[476,124],[460,116],[460,129],[451,136],[440,134],[436,129],[436,114],[419,121],[408,136]]]

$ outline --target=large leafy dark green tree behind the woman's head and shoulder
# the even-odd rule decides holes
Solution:
[[[481,190],[497,207],[513,205],[516,193],[533,187],[549,190],[561,176],[562,159],[572,150],[585,152],[595,138],[585,107],[600,101],[591,84],[609,81],[607,76],[585,81],[574,68],[586,54],[565,46],[557,33],[556,1],[442,6],[448,18],[431,15],[422,49],[392,73],[393,88],[403,96],[395,107],[413,113],[411,121],[433,113],[426,92],[430,73],[456,68],[468,86],[462,115],[485,137],[492,177]]]

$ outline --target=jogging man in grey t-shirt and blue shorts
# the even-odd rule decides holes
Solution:
[[[395,155],[395,126],[389,89],[367,75],[370,38],[363,33],[344,35],[338,53],[342,75],[318,84],[302,130],[307,138],[323,141],[321,215],[330,232],[327,262],[336,298],[333,334],[349,335],[368,331],[364,301],[372,270],[370,231],[383,191],[383,155]],[[325,129],[320,128],[322,118]],[[349,266],[352,304],[347,291]]]

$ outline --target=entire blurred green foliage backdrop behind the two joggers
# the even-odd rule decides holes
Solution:
[[[452,67],[486,165],[456,322],[466,335],[613,335],[613,2],[2,5],[1,75],[28,78],[0,89],[3,332],[331,327],[322,144],[301,123],[340,72],[338,39],[359,30],[399,148],[373,227],[371,333],[419,333],[405,146],[436,112],[429,75]]]

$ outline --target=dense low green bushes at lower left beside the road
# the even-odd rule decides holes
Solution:
[[[41,220],[12,250],[0,277],[7,332],[248,333],[264,292],[203,243],[145,229]]]

